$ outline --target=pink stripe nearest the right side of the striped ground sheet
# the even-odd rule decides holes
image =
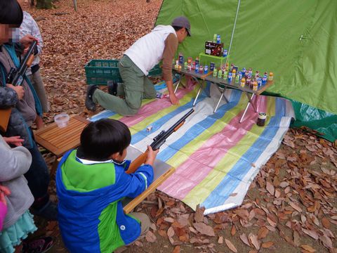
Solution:
[[[258,105],[259,110],[265,111],[267,96],[258,96]],[[164,181],[158,189],[172,197],[183,200],[194,186],[197,186],[206,178],[227,151],[234,147],[234,145],[237,145],[246,135],[247,131],[256,124],[257,114],[251,106],[249,106],[249,110],[246,112],[244,122],[239,123],[243,113],[244,111],[242,110],[230,120],[222,131],[209,138],[183,164],[180,164],[176,172]],[[202,161],[202,163],[198,161]]]

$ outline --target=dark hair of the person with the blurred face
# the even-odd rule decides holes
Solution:
[[[20,27],[23,19],[22,8],[16,0],[0,0],[0,24]]]

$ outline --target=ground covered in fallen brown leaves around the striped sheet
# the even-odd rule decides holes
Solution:
[[[86,115],[84,65],[119,58],[156,20],[161,1],[60,0],[53,10],[27,9],[38,20],[45,48],[41,73],[53,122],[58,112]],[[48,164],[51,154],[44,154]],[[152,225],[125,252],[337,252],[337,150],[324,139],[291,129],[251,183],[242,206],[203,215],[156,192],[136,208]],[[51,181],[55,199],[55,181]],[[56,238],[51,252],[66,252],[57,222],[37,219],[39,231]]]

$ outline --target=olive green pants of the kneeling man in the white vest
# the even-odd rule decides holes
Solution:
[[[118,68],[124,84],[118,84],[117,96],[96,89],[93,93],[93,102],[120,115],[136,115],[143,98],[156,97],[154,85],[128,56],[124,55],[121,58]]]

